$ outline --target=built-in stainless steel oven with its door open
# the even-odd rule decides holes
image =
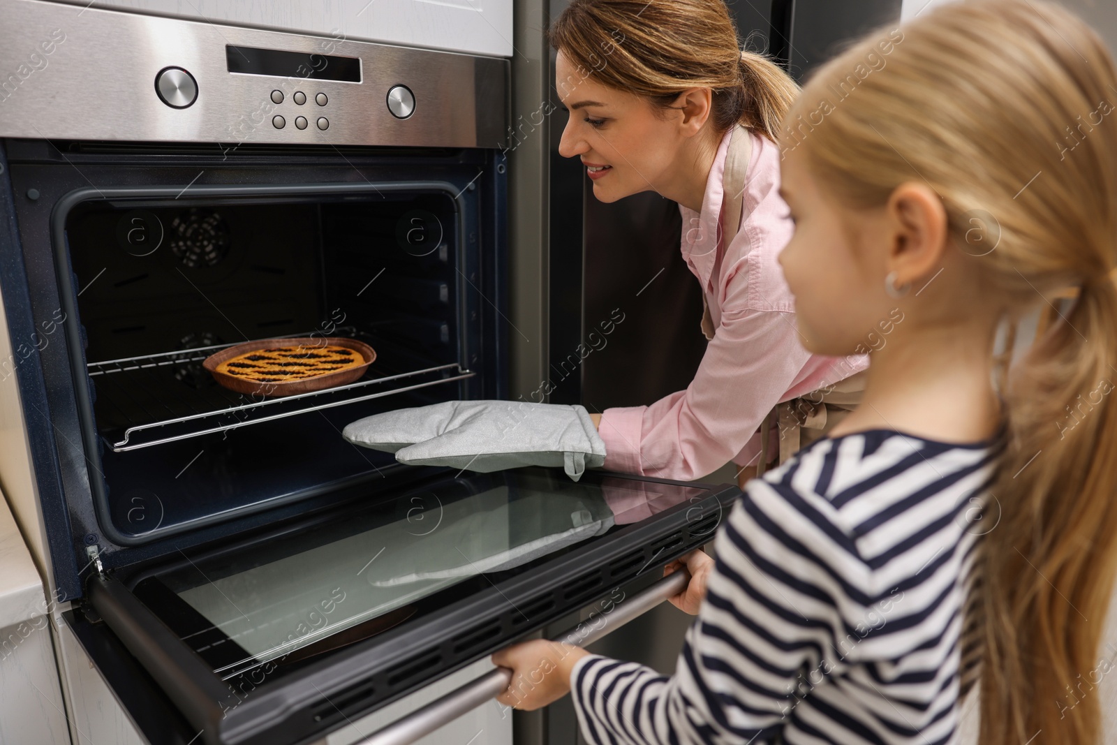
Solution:
[[[0,399],[30,487],[10,453],[0,485],[147,742],[321,741],[709,539],[731,487],[403,467],[341,437],[508,395],[506,59],[0,18]],[[201,367],[304,336],[378,356],[285,398]]]

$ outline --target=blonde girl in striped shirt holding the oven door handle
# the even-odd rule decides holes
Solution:
[[[903,314],[861,405],[687,557],[674,677],[533,641],[494,656],[502,700],[572,686],[591,743],[945,743],[980,675],[983,744],[1099,742],[1071,686],[1115,566],[1115,99],[1104,44],[1041,0],[948,4],[825,65],[782,135],[780,260],[812,352]],[[1000,323],[1069,285],[996,370]]]

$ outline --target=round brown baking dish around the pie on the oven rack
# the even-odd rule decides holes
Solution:
[[[341,346],[353,350],[364,357],[364,362],[345,367],[344,370],[325,372],[312,378],[285,381],[256,381],[218,371],[218,365],[222,362],[227,362],[242,354],[248,354],[249,352],[259,352],[265,354],[268,350],[278,350],[292,346],[302,346],[307,353],[311,354],[314,353],[315,348]],[[364,342],[359,342],[353,338],[343,338],[338,336],[300,336],[297,338],[269,338],[237,344],[236,346],[230,346],[206,357],[202,362],[202,366],[208,370],[211,375],[213,375],[213,380],[230,391],[236,391],[237,393],[281,397],[295,395],[296,393],[312,393],[314,391],[322,391],[327,388],[352,383],[364,374],[364,371],[367,370],[369,365],[371,365],[375,359],[376,353],[373,352],[371,346]]]

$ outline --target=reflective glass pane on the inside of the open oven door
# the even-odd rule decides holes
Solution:
[[[627,479],[575,484],[545,471],[509,471],[496,480],[467,496],[461,481],[446,483],[457,488],[401,497],[390,509],[356,518],[365,524],[351,519],[344,531],[321,531],[313,545],[304,541],[285,555],[268,554],[238,571],[202,564],[164,582],[208,620],[206,631],[223,634],[208,643],[235,642],[217,656],[198,649],[220,660],[216,671],[229,677],[359,624],[365,625],[355,631],[382,631],[445,588],[514,570],[701,491]]]

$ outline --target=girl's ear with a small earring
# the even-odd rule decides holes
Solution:
[[[943,265],[947,220],[943,200],[926,183],[909,181],[897,187],[887,207],[890,248],[888,271],[896,285],[929,279]]]

